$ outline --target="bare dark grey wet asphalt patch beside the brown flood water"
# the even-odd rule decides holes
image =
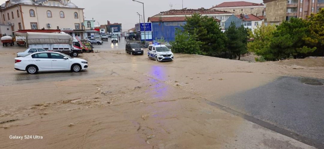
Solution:
[[[321,84],[324,80],[281,77],[215,102],[324,144],[324,86]]]

